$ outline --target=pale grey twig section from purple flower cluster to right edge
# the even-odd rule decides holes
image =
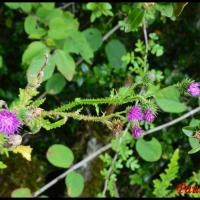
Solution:
[[[148,135],[148,134],[150,134],[150,133],[153,133],[153,132],[156,132],[156,131],[160,131],[160,130],[162,130],[162,129],[164,129],[164,128],[167,128],[167,127],[169,127],[169,126],[172,126],[172,125],[174,125],[174,124],[176,124],[176,123],[182,121],[183,119],[185,119],[185,118],[187,118],[187,117],[189,117],[189,116],[191,116],[191,115],[194,115],[195,113],[197,113],[197,112],[199,112],[199,111],[200,111],[200,106],[197,107],[197,108],[195,108],[195,109],[193,109],[193,110],[191,110],[190,112],[188,112],[188,113],[182,115],[181,117],[178,117],[178,118],[176,118],[175,120],[172,120],[171,122],[168,122],[168,123],[166,123],[166,124],[157,126],[156,128],[153,128],[153,129],[151,129],[151,130],[149,130],[149,131],[144,132],[144,135]]]

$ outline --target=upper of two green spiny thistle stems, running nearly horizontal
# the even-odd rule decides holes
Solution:
[[[56,112],[66,111],[78,105],[97,105],[97,104],[121,105],[121,104],[132,102],[135,99],[140,99],[146,102],[146,99],[142,96],[133,96],[127,99],[123,99],[119,97],[106,97],[106,98],[98,98],[98,99],[78,99],[77,98],[73,102],[70,102],[66,105],[56,108],[53,111],[56,111]]]

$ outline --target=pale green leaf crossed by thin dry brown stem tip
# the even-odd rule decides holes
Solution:
[[[38,72],[41,70],[41,67],[45,63],[45,56],[44,54],[40,54],[34,57],[30,63],[30,66],[27,70],[27,80],[29,83],[37,76]],[[51,55],[49,55],[47,66],[44,68],[44,75],[42,81],[48,80],[55,69],[55,61]]]

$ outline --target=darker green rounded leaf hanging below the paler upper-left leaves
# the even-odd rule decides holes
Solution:
[[[55,95],[60,93],[65,85],[65,78],[60,73],[56,73],[46,82],[45,90],[48,94]]]

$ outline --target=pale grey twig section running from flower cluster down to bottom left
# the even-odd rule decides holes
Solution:
[[[96,152],[94,152],[93,154],[89,155],[87,158],[85,158],[84,160],[78,162],[77,164],[73,165],[70,169],[68,169],[67,171],[65,171],[64,173],[62,173],[61,175],[59,175],[58,177],[56,177],[55,179],[53,179],[52,181],[50,181],[48,184],[46,184],[45,186],[43,186],[42,188],[40,188],[38,191],[36,191],[33,194],[33,197],[37,197],[40,194],[42,194],[44,191],[46,191],[48,188],[52,187],[54,184],[56,184],[58,181],[60,181],[61,179],[65,178],[67,176],[67,174],[69,174],[70,172],[80,168],[81,166],[85,165],[87,162],[95,159],[97,156],[99,156],[100,154],[102,154],[103,152],[107,151],[108,149],[111,148],[111,144],[107,144],[106,146],[100,148],[99,150],[97,150]]]

